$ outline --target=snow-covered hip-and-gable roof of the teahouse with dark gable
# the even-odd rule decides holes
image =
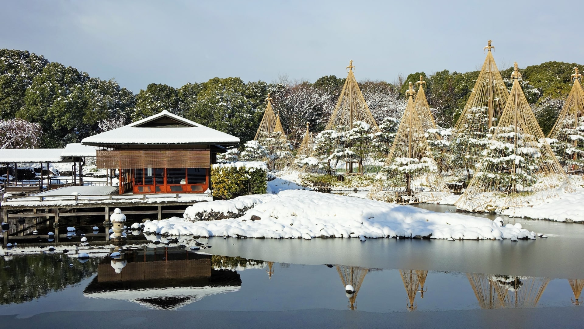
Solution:
[[[238,144],[239,138],[174,115],[166,110],[117,129],[84,138],[84,145]]]

